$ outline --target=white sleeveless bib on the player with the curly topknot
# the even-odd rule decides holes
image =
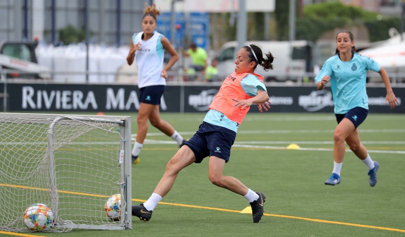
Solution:
[[[161,76],[163,69],[163,58],[165,51],[160,42],[163,36],[157,31],[148,40],[142,40],[143,31],[135,33],[133,44],[141,43],[140,50],[135,52],[136,64],[138,67],[138,87],[150,85],[166,85],[166,79]]]

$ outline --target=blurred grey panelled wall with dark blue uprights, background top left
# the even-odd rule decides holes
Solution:
[[[129,43],[141,31],[144,4],[152,0],[2,0],[0,40],[44,40],[59,44],[60,30],[86,25],[90,41]]]

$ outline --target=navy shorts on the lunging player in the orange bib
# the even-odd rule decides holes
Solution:
[[[203,122],[184,145],[193,151],[195,163],[201,163],[208,156],[216,156],[228,162],[235,138],[236,132]]]

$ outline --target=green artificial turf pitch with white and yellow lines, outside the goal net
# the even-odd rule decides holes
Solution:
[[[256,109],[256,108],[252,108]],[[136,114],[131,115],[136,135]],[[162,113],[185,138],[204,113]],[[265,215],[254,224],[243,197],[213,185],[208,159],[180,172],[172,191],[148,222],[133,217],[132,230],[72,230],[42,236],[405,236],[405,115],[369,114],[362,143],[380,163],[378,183],[346,151],[341,183],[323,182],[333,168],[334,114],[250,113],[239,128],[224,175],[266,195]],[[296,144],[300,149],[286,149]],[[296,146],[293,146],[293,148]],[[297,148],[297,147],[296,147]],[[133,204],[149,198],[178,146],[149,127],[140,163],[132,166]],[[6,235],[0,232],[0,235]]]

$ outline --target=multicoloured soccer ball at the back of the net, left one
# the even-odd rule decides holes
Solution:
[[[44,231],[49,229],[53,223],[54,214],[45,204],[32,204],[24,212],[24,224],[29,230]]]

